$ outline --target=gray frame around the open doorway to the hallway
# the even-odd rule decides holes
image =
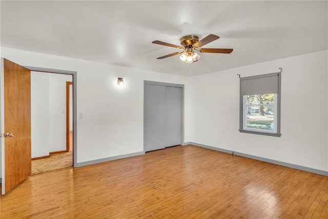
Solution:
[[[31,71],[55,73],[55,74],[69,74],[72,75],[73,81],[73,167],[77,167],[77,72],[66,71],[50,68],[39,68],[32,66],[23,66],[30,69]]]

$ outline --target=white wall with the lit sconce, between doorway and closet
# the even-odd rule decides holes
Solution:
[[[186,79],[10,48],[2,48],[1,56],[23,66],[77,71],[77,113],[83,113],[76,124],[77,163],[143,151],[144,80],[183,84]],[[117,77],[124,78],[124,88]]]

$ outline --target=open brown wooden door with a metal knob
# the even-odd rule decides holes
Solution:
[[[4,59],[4,137],[7,193],[31,174],[31,71]]]

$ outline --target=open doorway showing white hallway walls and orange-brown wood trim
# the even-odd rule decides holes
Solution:
[[[31,71],[31,175],[73,167],[72,75]]]

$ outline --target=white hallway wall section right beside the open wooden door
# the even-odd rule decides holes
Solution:
[[[49,155],[49,74],[31,72],[32,157]]]

